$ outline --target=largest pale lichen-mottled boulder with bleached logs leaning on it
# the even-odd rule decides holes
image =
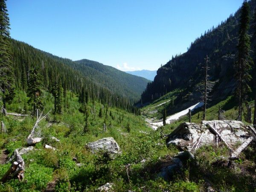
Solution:
[[[188,151],[193,151],[202,145],[216,143],[216,134],[211,127],[215,128],[233,149],[237,143],[243,143],[250,137],[248,128],[240,121],[213,120],[203,121],[200,125],[189,122],[182,123],[169,134],[166,143],[167,145],[177,145]],[[198,142],[199,140],[200,142]]]

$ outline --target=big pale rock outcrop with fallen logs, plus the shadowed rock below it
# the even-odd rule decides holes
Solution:
[[[240,121],[213,120],[203,121],[200,125],[182,123],[168,135],[166,144],[177,145],[183,151],[164,164],[157,176],[170,180],[180,171],[184,162],[194,159],[192,153],[202,145],[218,145],[222,142],[231,152],[230,157],[225,157],[225,160],[236,160],[241,151],[253,140],[253,134],[256,136],[256,130]]]

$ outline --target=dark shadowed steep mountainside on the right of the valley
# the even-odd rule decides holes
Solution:
[[[249,1],[249,4],[252,17],[253,10],[256,8],[256,0]],[[142,102],[152,102],[176,88],[183,89],[183,91],[177,96],[175,100],[177,105],[170,109],[170,113],[199,102],[201,99],[200,83],[203,79],[201,68],[206,55],[211,61],[209,79],[214,85],[211,93],[212,103],[233,94],[236,85],[233,63],[237,52],[239,11],[240,9],[234,15],[230,15],[225,22],[221,22],[216,28],[208,30],[197,38],[187,52],[176,55],[160,67],[154,81],[149,83],[143,92]]]

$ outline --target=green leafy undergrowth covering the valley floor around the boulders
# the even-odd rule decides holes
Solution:
[[[68,105],[61,115],[50,113],[47,119],[40,122],[40,128],[36,132],[44,139],[35,145],[33,151],[23,154],[23,181],[9,180],[0,185],[0,191],[44,191],[49,183],[54,183],[56,191],[96,191],[105,183],[113,183],[114,191],[118,192],[199,192],[206,190],[206,180],[209,180],[214,189],[222,191],[254,190],[255,148],[247,148],[232,169],[214,164],[215,159],[227,155],[227,148],[200,148],[196,154],[198,163],[184,163],[182,172],[177,173],[171,181],[164,181],[157,177],[157,173],[163,163],[169,162],[179,150],[175,146],[167,148],[160,131],[169,134],[186,119],[153,131],[146,126],[141,116],[134,116],[111,106],[108,106],[106,115],[105,105],[102,117],[99,117],[102,104],[94,102],[94,112],[93,102],[89,102],[89,131],[84,133],[84,115],[79,112],[81,106],[78,98],[73,93],[68,93],[68,98]],[[24,113],[26,101],[26,94],[17,92],[14,102],[7,109]],[[44,104],[46,113],[53,107],[51,94],[44,94]],[[27,111],[31,111],[29,106]],[[196,117],[197,114],[192,119],[195,120]],[[2,150],[7,149],[10,156],[16,148],[26,146],[26,137],[35,118],[1,116],[0,121],[5,123],[8,130],[8,133],[0,134],[0,147]],[[103,131],[104,122],[107,125],[106,132]],[[58,138],[60,142],[52,140],[52,137]],[[87,143],[103,137],[113,137],[120,146],[122,153],[113,160],[103,151],[92,154],[85,148]],[[57,150],[45,149],[44,144]],[[73,160],[74,157],[77,162]],[[82,166],[77,166],[76,163],[81,163]],[[10,163],[0,165],[0,177],[9,167]],[[247,186],[242,187],[242,182]]]

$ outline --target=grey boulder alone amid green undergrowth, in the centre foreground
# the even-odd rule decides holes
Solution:
[[[95,153],[98,150],[106,150],[111,154],[117,154],[120,152],[119,145],[116,143],[113,137],[106,137],[106,138],[94,141],[92,143],[88,143],[86,146],[87,148],[90,148],[90,150],[93,153]]]

